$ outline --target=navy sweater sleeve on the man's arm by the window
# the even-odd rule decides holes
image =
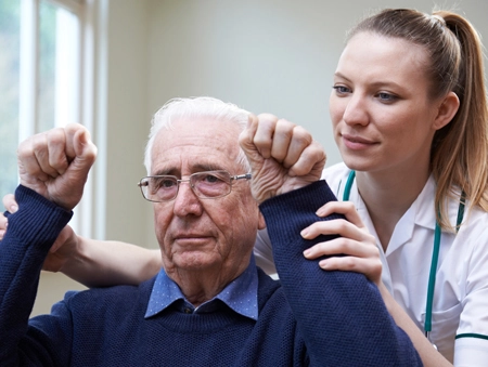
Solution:
[[[40,342],[46,336],[29,326],[28,318],[42,263],[73,213],[22,185],[15,199],[18,211],[9,215],[9,230],[0,241],[0,365],[52,366],[56,343]]]

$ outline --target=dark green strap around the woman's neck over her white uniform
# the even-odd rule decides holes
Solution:
[[[356,179],[356,171],[350,171],[349,175],[347,176],[346,186],[344,186],[343,201],[349,201],[350,188],[352,187],[352,183],[355,182],[355,179]],[[459,209],[458,209],[458,221],[455,224],[455,232],[459,231],[459,227],[461,226],[461,223],[463,221],[464,202],[465,202],[465,194],[464,194],[464,192],[462,192],[461,199],[459,202]],[[433,305],[433,301],[434,301],[434,289],[436,286],[437,263],[439,261],[440,235],[441,235],[440,225],[439,225],[439,222],[436,220],[436,228],[434,232],[434,249],[432,252],[431,272],[429,272],[429,276],[428,276],[427,302],[425,305],[425,323],[424,323],[425,337],[429,341],[431,341],[431,331],[432,331],[432,305]],[[433,343],[433,345],[435,349],[437,349],[437,346],[434,343]]]

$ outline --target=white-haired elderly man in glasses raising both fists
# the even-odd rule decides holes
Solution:
[[[317,221],[317,202],[334,199],[318,182],[320,146],[287,123],[268,145],[254,140],[257,129],[258,118],[217,100],[165,105],[140,183],[154,201],[164,268],[139,287],[69,292],[30,320],[42,262],[97,149],[76,124],[23,143],[20,209],[0,244],[0,365],[421,365],[372,284],[301,255],[310,243],[299,230]],[[253,260],[259,208],[282,285]]]

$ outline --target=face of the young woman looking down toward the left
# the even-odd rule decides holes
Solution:
[[[426,60],[402,39],[360,32],[349,40],[330,99],[334,137],[349,168],[428,169],[438,109],[428,97]]]

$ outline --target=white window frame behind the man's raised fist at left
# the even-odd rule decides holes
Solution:
[[[104,238],[105,235],[105,157],[100,144],[106,142],[106,24],[108,0],[43,0],[63,8],[79,21],[77,122],[87,127],[99,145],[98,163],[89,174],[84,198],[75,208],[70,222],[84,237]],[[39,88],[39,17],[41,0],[21,0],[21,55],[18,140],[24,141],[38,131]],[[104,49],[105,48],[105,49]],[[93,187],[97,186],[97,194]],[[97,196],[97,197],[95,197]],[[97,205],[94,205],[97,202]]]

